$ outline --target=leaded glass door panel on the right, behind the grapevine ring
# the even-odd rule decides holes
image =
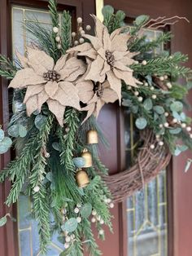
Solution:
[[[145,29],[147,41],[159,37],[160,31]],[[163,46],[155,50],[159,53]],[[135,157],[137,134],[133,130],[133,117],[124,110],[124,141],[126,145],[126,165]],[[160,174],[144,188],[129,196],[127,200],[128,218],[128,256],[167,256],[167,192],[166,171]]]

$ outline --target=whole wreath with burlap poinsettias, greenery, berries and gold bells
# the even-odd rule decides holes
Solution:
[[[0,182],[12,183],[8,206],[20,192],[31,196],[41,254],[58,232],[65,247],[60,255],[81,256],[86,247],[96,256],[101,252],[91,223],[104,239],[103,224],[112,231],[114,202],[142,188],[172,155],[192,148],[191,120],[183,112],[191,86],[190,68],[181,65],[187,56],[155,51],[170,41],[171,33],[151,42],[143,33],[144,28],[164,28],[181,18],[150,20],[140,15],[130,27],[124,24],[123,11],[115,13],[106,6],[103,23],[92,15],[91,35],[89,24],[85,33],[81,17],[76,32],[71,31],[68,11],[63,11],[59,24],[55,0],[49,1],[49,10],[51,29],[38,22],[26,24],[36,41],[24,55],[16,51],[14,61],[0,56],[0,74],[14,89],[11,121],[0,130],[0,153],[11,145],[16,150]],[[108,176],[98,157],[98,138],[106,141],[96,118],[104,104],[116,101],[133,115],[140,139],[133,166]],[[7,216],[1,218],[1,226]]]

